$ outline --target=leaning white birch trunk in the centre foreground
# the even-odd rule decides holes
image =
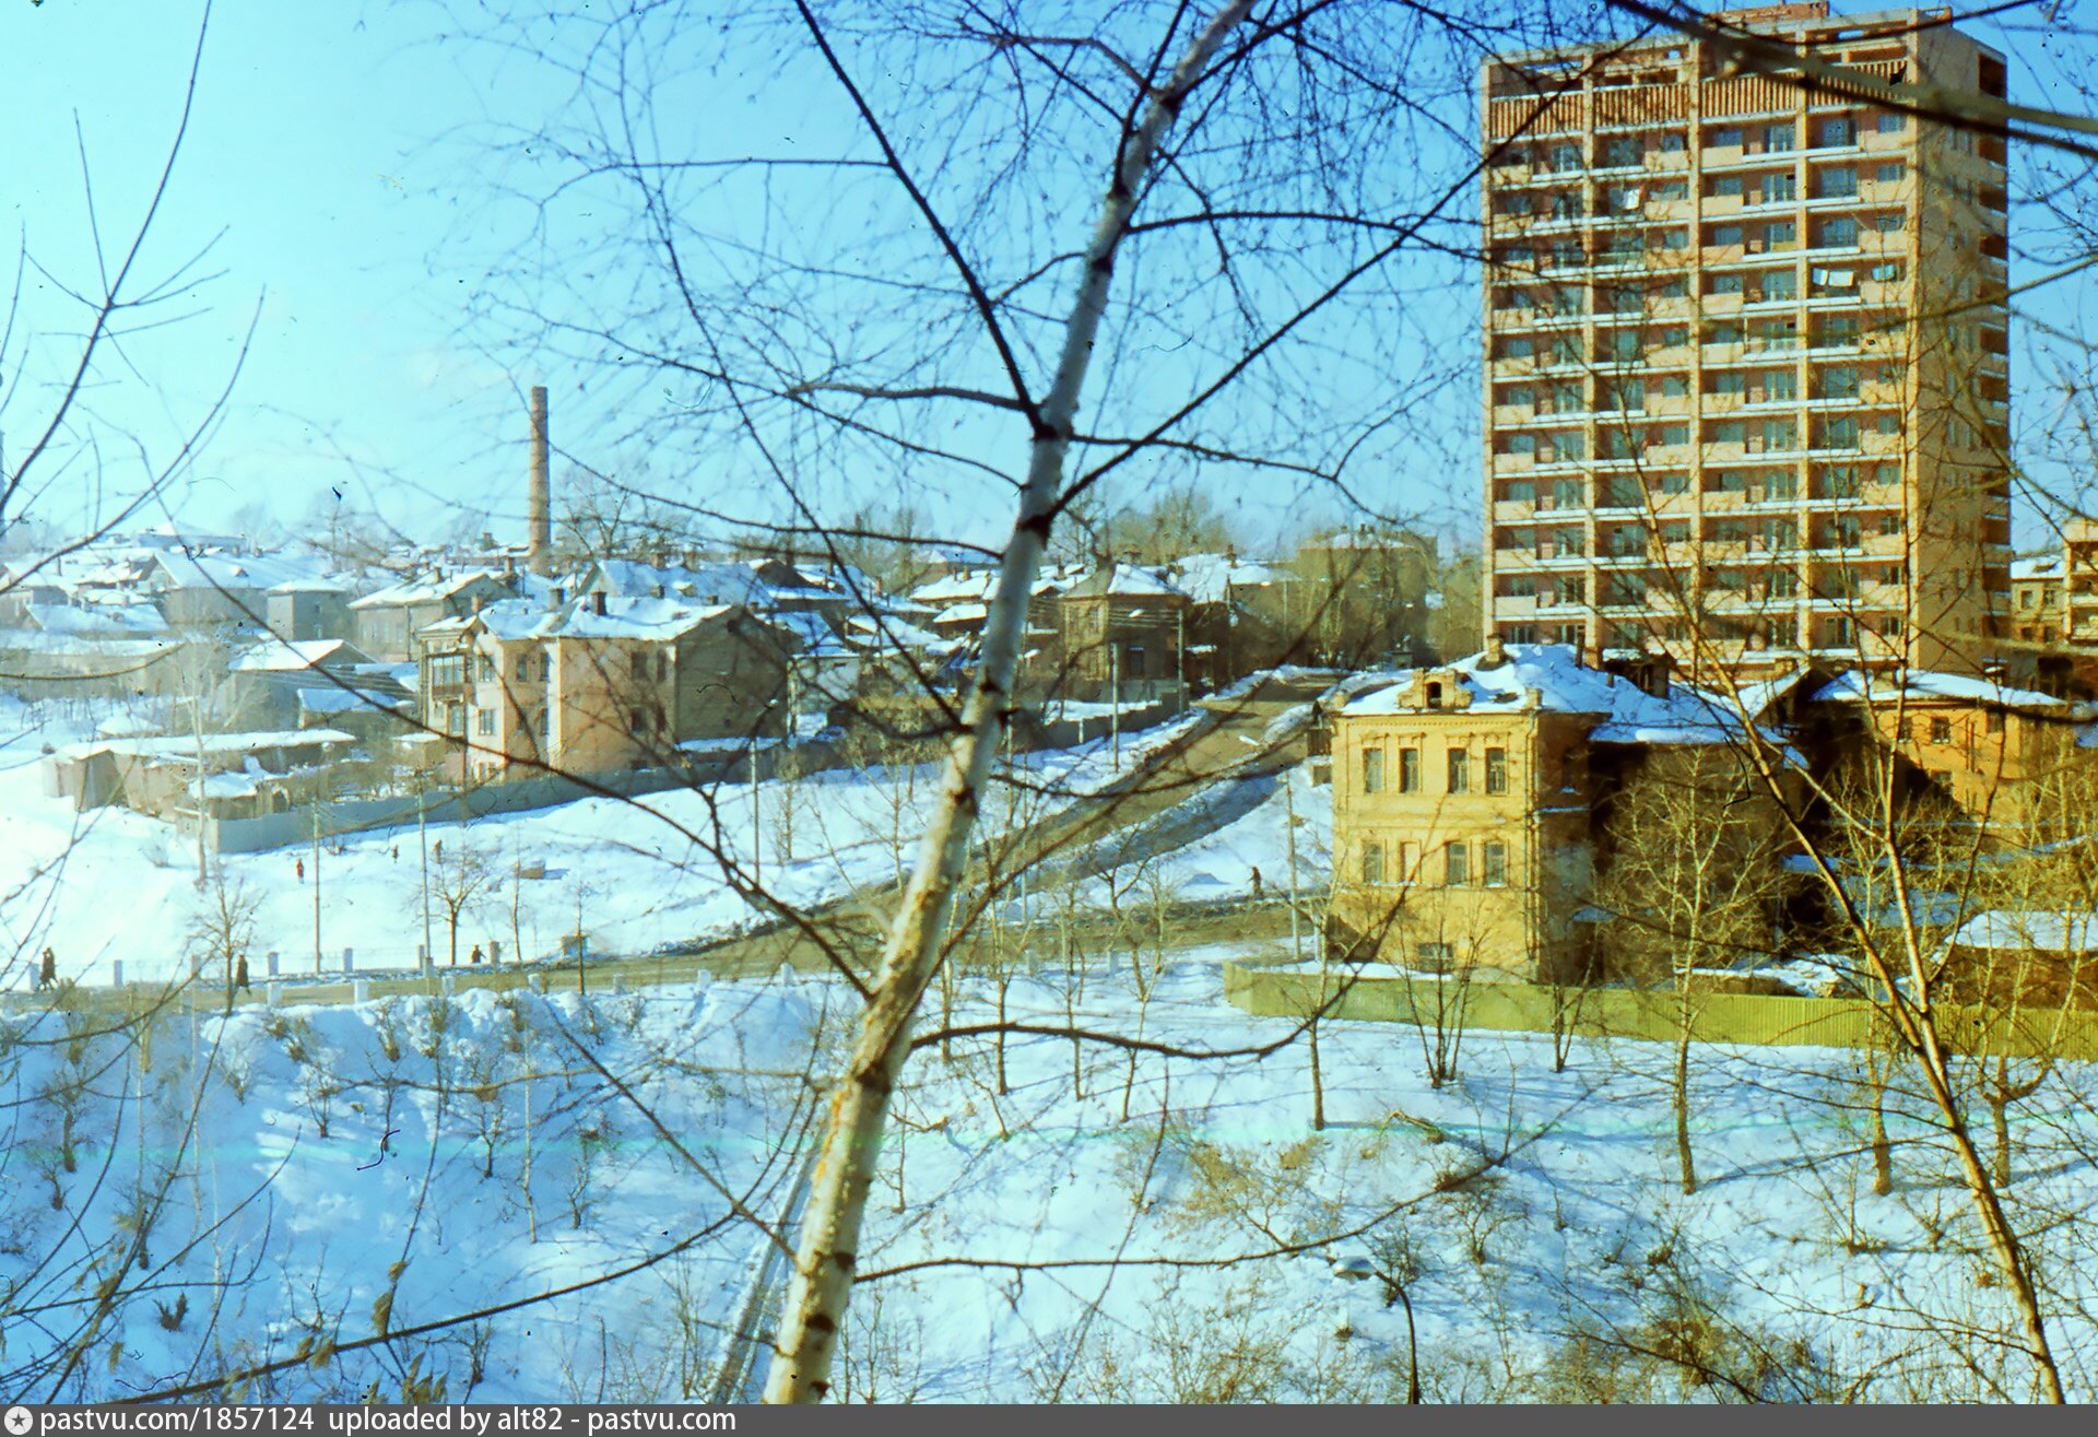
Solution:
[[[946,757],[940,803],[925,831],[911,883],[881,955],[881,978],[860,1020],[845,1076],[831,1099],[831,1118],[810,1183],[808,1210],[795,1250],[793,1286],[780,1320],[766,1401],[822,1401],[831,1391],[831,1361],[852,1296],[858,1261],[860,1221],[881,1156],[890,1097],[911,1051],[911,1022],[946,934],[969,854],[984,782],[1005,736],[1013,673],[1026,627],[1028,594],[1041,569],[1049,524],[1064,480],[1064,453],[1078,415],[1078,394],[1093,357],[1093,336],[1108,306],[1108,281],[1137,193],[1160,136],[1179,115],[1181,103],[1223,46],[1225,36],[1246,17],[1253,0],[1232,0],[1196,36],[1166,84],[1152,94],[1141,122],[1125,136],[1114,183],[1101,203],[1099,222],[1085,250],[1078,296],[1072,304],[1057,359],[1055,384],[1034,417],[1028,480],[1020,497],[999,585],[984,619],[982,659],[976,688],[963,711],[963,730]]]

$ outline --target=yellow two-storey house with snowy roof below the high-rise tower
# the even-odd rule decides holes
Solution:
[[[1332,728],[1334,952],[1546,980],[1588,963],[1611,797],[1743,734],[1666,659],[1599,669],[1559,644],[1397,671]]]

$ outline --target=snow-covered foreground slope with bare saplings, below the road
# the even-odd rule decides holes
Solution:
[[[1578,1045],[1555,1072],[1548,1036],[1473,1032],[1431,1087],[1433,1034],[1328,1024],[1313,1133],[1307,1045],[1244,1051],[1290,1028],[1229,1009],[1215,957],[1099,955],[1018,978],[1005,1011],[1232,1055],[1015,1036],[1001,1085],[988,1038],[921,1049],[841,1397],[1401,1399],[1410,1353],[1431,1401],[2029,1395],[1966,1198],[1899,1095],[1897,1185],[1871,1194],[1855,1055],[1699,1051],[1685,1196],[1664,1049]],[[965,984],[957,1017],[994,996]],[[250,1009],[162,1024],[145,1055],[42,1043],[61,1015],[15,1028],[0,1389],[283,1361],[250,1393],[705,1397],[766,1252],[734,1213],[785,1210],[804,1074],[848,1011],[783,975]],[[2094,1089],[2060,1068],[2016,1108],[2010,1187],[2081,1399]],[[138,1290],[97,1303],[117,1271]]]

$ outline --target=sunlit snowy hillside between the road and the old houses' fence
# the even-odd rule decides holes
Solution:
[[[55,950],[59,973],[107,984],[113,965],[128,982],[187,969],[183,936],[214,894],[197,892],[195,841],[122,808],[73,812],[46,797],[44,745],[92,736],[94,713],[71,722],[48,711],[0,709],[0,955],[15,959],[4,986],[29,973],[15,955]],[[1175,736],[1196,715],[1125,736],[1122,768]],[[984,833],[1028,820],[1091,793],[1116,776],[1106,743],[1022,755],[1028,795],[1009,808],[992,797]],[[590,936],[596,952],[650,952],[732,934],[757,915],[734,892],[724,860],[745,866],[776,898],[810,906],[860,885],[896,879],[908,864],[925,814],[938,797],[938,766],[831,770],[799,780],[669,791],[631,803],[585,799],[472,824],[430,822],[325,841],[319,864],[308,845],[229,854],[224,883],[254,904],[252,973],[279,952],[285,975],[315,971],[315,868],[321,883],[319,950],[329,973],[342,950],[361,971],[409,969],[428,942],[451,957],[445,889],[462,864],[485,873],[459,910],[457,959],[478,946],[506,957],[550,957],[564,934]],[[1330,812],[1330,803],[1328,803]],[[424,837],[430,843],[428,894]],[[462,858],[464,856],[464,858]],[[212,860],[220,871],[218,860]],[[539,866],[545,877],[516,877]],[[172,940],[172,942],[170,942]],[[4,959],[0,959],[4,961]]]

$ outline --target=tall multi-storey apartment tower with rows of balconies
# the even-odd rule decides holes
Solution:
[[[1945,10],[1714,21],[2004,94]],[[1485,627],[1974,667],[2010,606],[2004,138],[1655,38],[1481,82]]]

